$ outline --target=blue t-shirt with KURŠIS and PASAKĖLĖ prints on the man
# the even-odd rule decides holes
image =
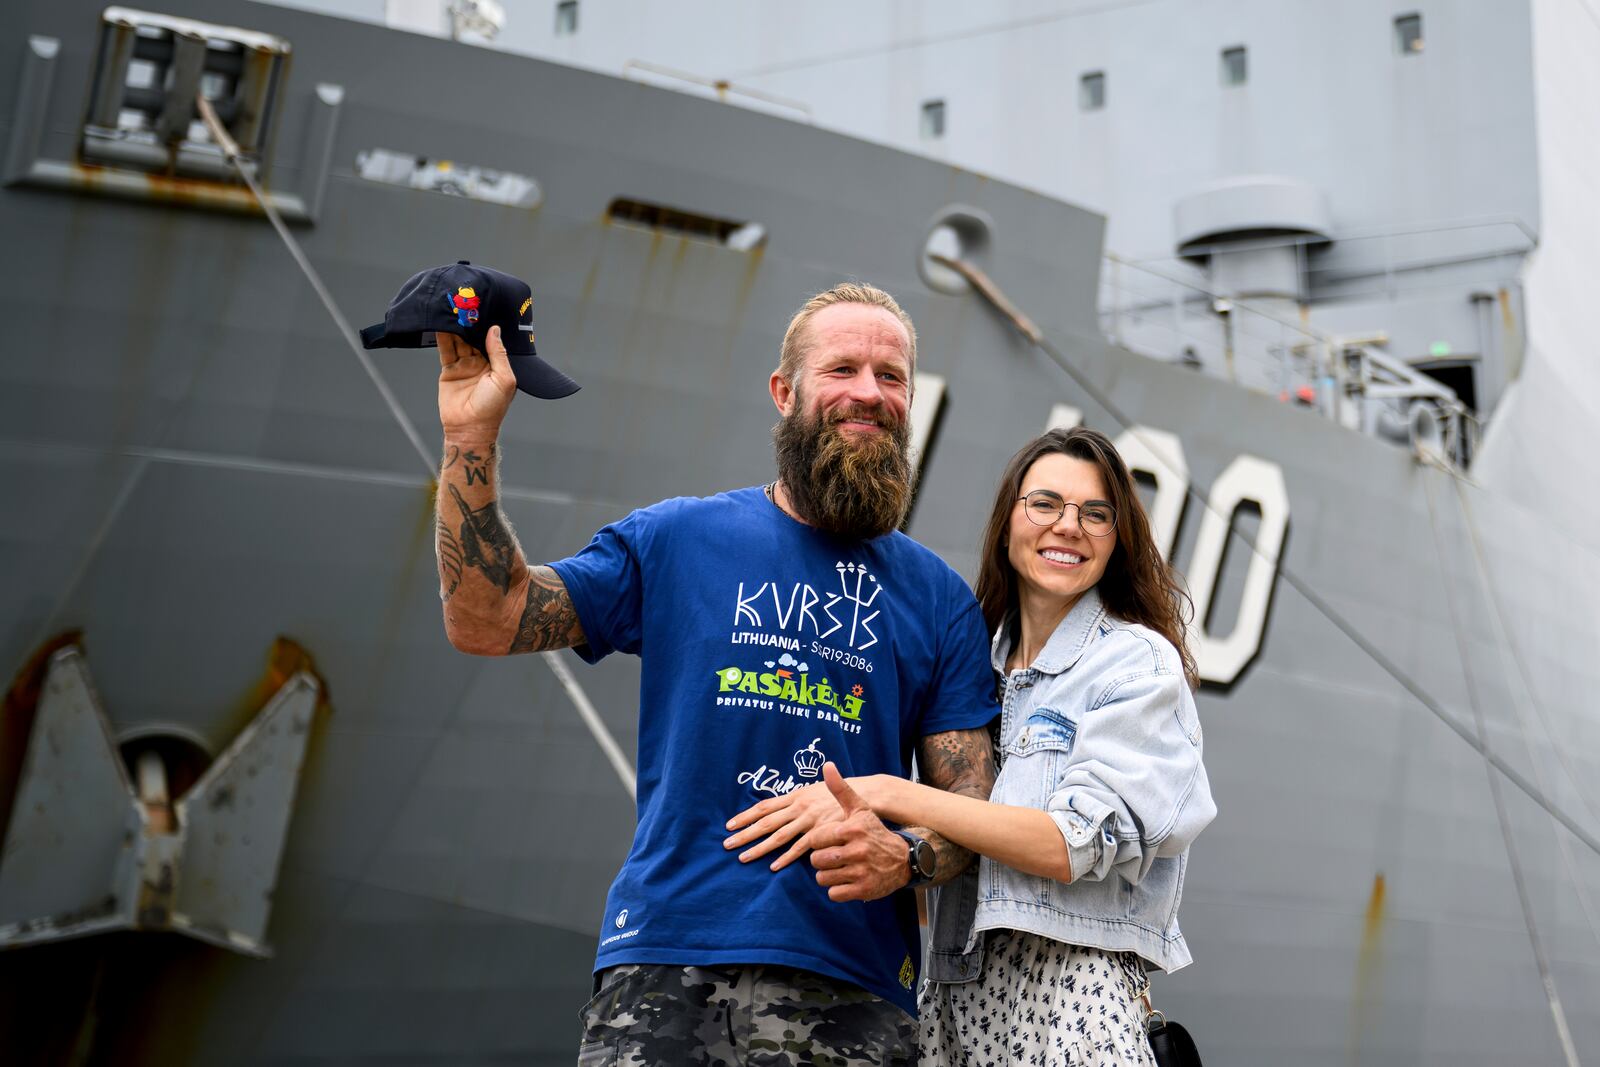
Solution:
[[[552,566],[589,641],[576,651],[642,657],[638,829],[595,969],[776,963],[915,1014],[910,893],[835,904],[808,862],[741,864],[723,824],[822,781],[824,760],[904,777],[923,734],[998,713],[962,577],[901,533],[798,523],[760,488],[637,510]]]

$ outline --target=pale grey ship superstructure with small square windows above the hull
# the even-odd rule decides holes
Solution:
[[[414,3],[322,6],[438,22]],[[1090,206],[1117,344],[1392,440],[1437,429],[1469,459],[1522,376],[1530,301],[1552,290],[1546,326],[1565,306],[1534,250],[1595,238],[1565,184],[1600,168],[1582,147],[1597,35],[1581,0],[565,0],[496,45]],[[1416,405],[1440,426],[1410,426]]]

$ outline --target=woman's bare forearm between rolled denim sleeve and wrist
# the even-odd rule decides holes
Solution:
[[[893,774],[853,777],[878,817],[934,833],[1022,873],[1072,881],[1067,841],[1050,814],[930,789]]]

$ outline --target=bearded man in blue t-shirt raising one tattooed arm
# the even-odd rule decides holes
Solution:
[[[493,458],[515,381],[438,334],[445,630],[461,651],[642,657],[638,829],[600,925],[579,1064],[910,1064],[920,939],[907,886],[971,861],[930,830],[830,808],[770,870],[728,817],[845,776],[910,773],[987,798],[998,713],[966,584],[898,531],[910,502],[917,334],[869,285],[811,298],[770,389],[778,478],[645,507],[528,566]],[[448,490],[448,493],[446,493]],[[458,514],[459,512],[459,514]],[[838,777],[829,768],[829,779]],[[848,816],[840,821],[840,814]],[[754,859],[747,849],[742,859]]]

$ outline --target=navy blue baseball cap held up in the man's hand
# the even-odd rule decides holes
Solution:
[[[517,389],[546,400],[578,392],[578,382],[533,349],[533,290],[528,283],[466,259],[413,274],[389,301],[384,320],[362,331],[362,344],[368,349],[432,349],[437,347],[434,334],[453,333],[478,352],[488,352],[490,326],[501,328]]]

